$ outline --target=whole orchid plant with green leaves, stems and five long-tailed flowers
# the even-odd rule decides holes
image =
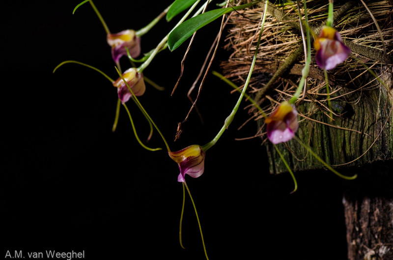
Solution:
[[[217,18],[232,12],[232,11],[237,11],[241,10],[244,8],[248,8],[257,1],[253,1],[251,3],[247,4],[242,4],[242,5],[237,5],[237,6],[230,6],[230,7],[225,7],[225,8],[218,8],[214,9],[211,11],[203,12],[202,10],[204,7],[209,3],[209,1],[206,1],[203,6],[201,6],[193,15],[192,18],[186,20],[188,16],[193,12],[193,10],[197,7],[197,4],[199,3],[199,0],[175,0],[171,5],[169,5],[157,18],[155,18],[148,26],[140,29],[140,30],[133,30],[133,29],[126,29],[124,31],[121,31],[119,33],[114,33],[112,34],[106,23],[104,22],[103,18],[101,17],[100,13],[98,12],[97,8],[93,4],[92,0],[85,0],[78,4],[74,12],[77,8],[79,8],[81,5],[84,3],[89,2],[94,11],[96,12],[97,16],[99,17],[102,25],[104,26],[106,33],[107,33],[107,42],[111,46],[111,54],[114,63],[116,64],[116,71],[118,74],[118,78],[116,80],[113,80],[112,78],[108,77],[105,73],[102,71],[98,70],[95,67],[92,67],[90,65],[87,65],[85,63],[79,62],[79,61],[72,61],[72,60],[67,60],[62,63],[60,63],[54,70],[54,72],[62,65],[66,63],[76,63],[79,65],[83,65],[85,67],[91,68],[93,70],[96,70],[100,74],[102,74],[105,78],[111,81],[112,85],[116,87],[117,89],[117,94],[118,94],[118,106],[120,106],[120,103],[123,104],[125,107],[129,119],[131,121],[135,137],[137,138],[138,142],[142,147],[144,147],[147,150],[150,151],[158,151],[161,150],[161,148],[148,148],[146,147],[139,139],[137,132],[135,130],[135,125],[132,120],[131,114],[129,109],[126,106],[126,102],[132,99],[137,106],[139,107],[140,111],[142,114],[146,117],[149,125],[150,125],[150,134],[148,139],[151,137],[152,131],[153,131],[153,126],[157,130],[157,132],[160,134],[161,138],[164,141],[164,144],[166,146],[168,155],[170,159],[172,159],[175,163],[177,163],[178,168],[180,170],[180,173],[177,177],[177,181],[181,182],[183,185],[183,198],[185,197],[185,188],[188,191],[188,194],[190,196],[190,199],[192,201],[193,207],[195,209],[195,213],[197,216],[197,222],[199,225],[199,231],[201,234],[201,239],[202,239],[202,244],[205,252],[206,259],[207,257],[207,251],[206,251],[206,246],[204,243],[203,239],[203,234],[202,234],[202,229],[200,226],[199,222],[199,217],[197,214],[197,208],[195,206],[194,200],[191,196],[190,189],[187,186],[186,183],[186,175],[189,175],[192,178],[197,178],[200,177],[204,173],[204,161],[205,161],[205,156],[207,150],[209,150],[211,147],[213,147],[217,141],[220,139],[224,131],[229,127],[231,122],[233,121],[233,118],[239,108],[239,105],[243,99],[244,96],[248,97],[246,94],[247,87],[250,82],[251,75],[253,73],[253,68],[256,60],[256,55],[258,53],[258,48],[259,44],[261,41],[261,36],[263,33],[263,26],[265,23],[266,19],[266,13],[267,13],[267,7],[268,7],[268,0],[265,1],[265,9],[263,12],[263,16],[261,17],[260,25],[258,25],[259,29],[259,35],[258,35],[258,40],[257,40],[257,45],[255,48],[255,52],[253,55],[253,61],[251,63],[250,67],[250,72],[248,74],[246,83],[241,91],[240,97],[237,101],[237,103],[234,105],[232,111],[230,112],[229,116],[225,119],[223,127],[219,130],[217,135],[208,143],[205,145],[191,145],[186,148],[183,148],[179,151],[171,151],[169,148],[169,144],[166,141],[166,138],[162,134],[162,132],[159,130],[157,125],[154,123],[152,118],[149,116],[147,113],[146,109],[142,104],[140,103],[138,97],[143,95],[143,93],[146,90],[145,83],[144,83],[144,78],[143,77],[143,70],[152,62],[152,60],[155,58],[156,54],[160,51],[163,51],[168,47],[170,51],[175,50],[178,48],[182,43],[184,43],[191,35],[193,35],[198,29],[200,29],[203,26],[208,25],[212,21],[216,20]],[[265,123],[266,123],[266,131],[267,131],[267,137],[268,139],[272,142],[272,144],[275,146],[276,150],[280,154],[279,150],[277,149],[278,144],[287,142],[293,138],[296,138],[296,131],[299,128],[298,125],[298,118],[297,118],[297,110],[296,110],[296,102],[299,99],[299,96],[304,89],[304,86],[307,85],[307,77],[309,74],[309,67],[311,63],[311,37],[310,37],[310,30],[308,26],[308,16],[307,16],[307,8],[306,8],[306,0],[304,0],[304,7],[306,10],[305,13],[305,25],[306,25],[306,35],[303,33],[303,27],[302,27],[302,22],[300,22],[300,26],[302,29],[302,36],[304,39],[304,46],[305,46],[305,66],[302,70],[302,78],[299,81],[298,88],[294,95],[292,96],[291,99],[288,101],[282,102],[278,108],[271,113],[269,116],[267,116],[261,108],[254,102],[253,104],[258,107],[258,109],[262,112],[262,114],[265,117]],[[144,54],[143,58],[140,60],[136,60],[138,56],[140,56],[141,52],[141,40],[140,37],[147,33],[149,29],[153,26],[155,26],[158,21],[160,21],[165,15],[167,18],[167,21],[172,20],[176,15],[178,15],[180,12],[187,10],[186,14],[179,20],[179,22],[173,27],[173,29],[157,44],[157,47],[153,49],[152,51]],[[201,14],[202,13],[202,14]],[[327,75],[326,71],[334,69],[337,64],[345,61],[345,59],[348,57],[350,54],[350,49],[346,47],[342,43],[342,39],[339,35],[339,33],[332,27],[333,26],[333,0],[329,0],[329,18],[327,22],[327,26],[324,26],[320,32],[319,36],[314,36],[314,48],[316,50],[316,62],[318,66],[325,71],[325,75]],[[120,58],[122,56],[128,56],[132,67],[129,68],[128,70],[124,71],[124,73],[121,73],[120,69]],[[143,62],[139,67],[136,67],[134,62]],[[327,77],[327,76],[326,76]],[[221,77],[223,78],[223,77]],[[227,79],[223,78],[226,82],[228,82]],[[147,81],[147,79],[146,79]],[[150,82],[150,80],[149,80]],[[326,81],[327,82],[327,81]],[[231,82],[228,82],[229,84],[233,84]],[[327,89],[328,89],[327,85]],[[328,90],[329,91],[329,90]],[[249,98],[249,97],[248,97]],[[329,99],[329,92],[328,92],[328,99]],[[251,98],[249,100],[252,101]],[[115,129],[115,125],[117,124],[117,119],[118,119],[118,108],[116,112],[116,117],[115,117],[115,124],[113,129]],[[297,139],[298,140],[298,139]],[[298,140],[300,142],[300,140]],[[302,144],[308,151],[318,158],[318,160],[324,164],[327,168],[329,168],[332,172],[337,174],[339,177],[347,179],[347,180],[352,180],[356,178],[356,176],[352,177],[347,177],[343,176],[340,173],[338,173],[336,170],[332,169],[326,162],[324,162],[322,159],[320,159],[315,153],[311,151],[306,145]],[[280,154],[281,156],[281,154]],[[283,157],[281,156],[283,159]],[[290,172],[293,181],[295,183],[295,188],[293,191],[297,189],[297,182],[296,179],[289,168],[288,164],[284,161],[286,164],[288,171]],[[182,238],[181,238],[181,221],[183,218],[183,210],[184,210],[184,200],[183,200],[183,207],[182,207],[182,213],[180,217],[180,245],[182,245]],[[184,247],[183,247],[184,248]]]

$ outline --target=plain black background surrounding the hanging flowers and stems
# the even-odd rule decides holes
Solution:
[[[64,60],[78,60],[116,78],[106,34],[89,4],[79,1],[1,1],[0,259],[7,250],[85,251],[86,259],[204,259],[197,220],[186,197],[183,243],[178,242],[182,185],[178,168],[163,151],[140,147],[121,110],[112,123],[117,95],[97,72]],[[139,29],[169,1],[95,1],[112,32]],[[150,8],[150,9],[149,9]],[[176,19],[175,19],[176,20]],[[142,37],[142,52],[153,49],[174,22],[162,21]],[[200,30],[175,95],[188,42],[161,52],[145,76],[166,87],[147,85],[140,101],[163,131],[172,150],[203,145],[222,127],[238,95],[209,75],[198,108],[173,143],[177,122],[190,102],[218,24]],[[214,68],[227,54],[220,50]],[[125,59],[125,58],[124,58]],[[127,68],[122,59],[122,68]],[[129,103],[142,140],[148,126]],[[187,183],[195,199],[208,256],[215,259],[346,259],[341,203],[345,182],[330,172],[299,173],[299,190],[289,194],[289,174],[271,176],[256,124],[239,113],[207,152],[205,172]],[[164,147],[154,133],[150,147]],[[322,253],[323,252],[323,253]],[[322,253],[322,254],[321,254]],[[44,257],[45,259],[45,257]]]

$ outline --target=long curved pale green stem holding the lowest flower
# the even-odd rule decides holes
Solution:
[[[233,107],[232,112],[225,119],[224,126],[221,128],[221,130],[218,132],[218,134],[213,138],[213,140],[211,140],[210,142],[208,142],[207,144],[205,144],[204,146],[201,147],[203,151],[207,151],[210,147],[212,147],[213,145],[215,145],[217,143],[218,139],[220,139],[220,137],[224,133],[225,129],[227,129],[229,127],[229,125],[232,123],[232,120],[235,117],[235,114],[236,114],[237,110],[239,109],[240,102],[242,101],[243,96],[246,93],[246,89],[247,89],[247,86],[249,85],[249,82],[250,82],[250,79],[251,79],[251,75],[253,74],[253,69],[254,69],[254,65],[255,65],[256,55],[258,54],[259,44],[261,42],[263,26],[265,25],[267,6],[268,6],[268,0],[266,1],[265,9],[263,11],[263,18],[262,18],[261,29],[259,31],[258,42],[256,43],[256,48],[255,48],[255,52],[254,52],[253,61],[251,63],[250,72],[249,72],[249,75],[248,75],[248,77],[246,79],[246,83],[244,84],[242,93],[240,94],[239,99],[237,100],[235,106]]]

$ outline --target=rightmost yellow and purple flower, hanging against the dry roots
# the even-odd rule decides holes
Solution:
[[[323,26],[314,41],[315,60],[321,69],[331,70],[351,54],[351,49],[342,43],[340,34],[330,26]]]

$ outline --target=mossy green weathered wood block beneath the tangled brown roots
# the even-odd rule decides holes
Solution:
[[[362,80],[369,81],[370,77]],[[390,85],[389,78],[385,78],[385,82]],[[299,130],[296,134],[299,139],[330,165],[360,166],[392,159],[393,92],[390,91],[388,94],[385,87],[376,84],[374,87],[358,91],[343,87],[338,94],[345,96],[339,99],[332,98],[332,108],[339,115],[333,116],[332,122],[319,103],[304,102],[297,106],[300,114],[332,125],[302,120],[304,118],[299,116]],[[308,115],[310,111],[315,112]],[[323,165],[297,140],[291,140],[279,147],[294,171],[323,168]],[[268,144],[267,149],[271,172],[286,172],[287,169],[274,147]]]

